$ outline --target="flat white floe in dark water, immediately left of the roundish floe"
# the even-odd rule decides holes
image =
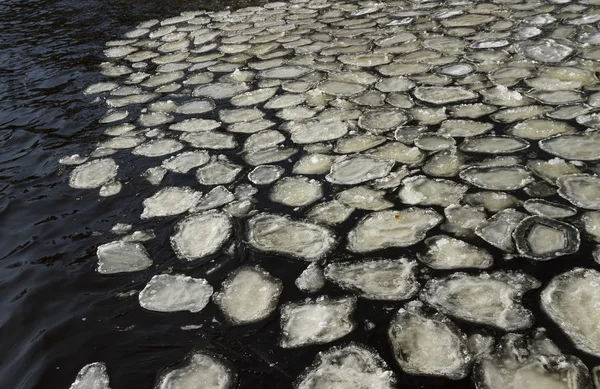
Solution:
[[[200,312],[212,296],[205,279],[183,275],[159,274],[139,294],[140,305],[150,311]]]

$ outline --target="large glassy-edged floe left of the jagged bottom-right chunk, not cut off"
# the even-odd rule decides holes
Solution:
[[[400,308],[388,329],[394,357],[412,375],[465,378],[471,367],[467,336],[440,313],[428,314],[419,302]]]

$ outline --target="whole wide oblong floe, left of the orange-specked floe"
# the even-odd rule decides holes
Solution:
[[[316,224],[262,213],[248,221],[248,241],[260,251],[316,261],[333,248],[335,235]]]

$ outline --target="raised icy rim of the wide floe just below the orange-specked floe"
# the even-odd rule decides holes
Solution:
[[[357,288],[356,286],[352,285],[351,283],[345,282],[345,280],[335,278],[331,275],[332,268],[335,268],[335,267],[343,268],[344,266],[347,266],[347,265],[360,266],[360,265],[366,265],[366,264],[373,264],[373,265],[381,264],[382,266],[380,266],[380,267],[375,266],[378,269],[383,269],[387,265],[396,265],[396,264],[399,264],[402,267],[405,267],[409,272],[411,272],[411,274],[409,274],[409,276],[407,277],[408,278],[407,284],[409,286],[409,288],[407,288],[407,289],[409,289],[409,291],[402,298],[398,298],[398,296],[394,296],[394,295],[387,295],[387,296],[375,295],[375,294],[369,293],[367,291],[361,290],[360,288]],[[323,275],[329,282],[336,284],[337,286],[339,286],[340,288],[342,288],[344,290],[354,292],[359,297],[362,297],[367,300],[403,301],[403,300],[409,300],[409,299],[413,298],[414,296],[417,295],[417,293],[419,292],[419,289],[421,289],[421,285],[419,284],[419,282],[417,281],[417,278],[416,278],[417,267],[418,267],[417,261],[415,261],[414,259],[406,258],[406,257],[401,257],[398,259],[387,259],[387,258],[365,259],[365,260],[359,260],[359,261],[332,262],[323,269]],[[390,270],[388,270],[388,271],[390,271]]]

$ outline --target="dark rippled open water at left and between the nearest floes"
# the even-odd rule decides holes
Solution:
[[[97,120],[105,108],[91,104],[81,90],[103,79],[97,66],[102,62],[104,42],[144,20],[226,5],[223,1],[180,0],[0,3],[0,388],[68,388],[79,369],[94,361],[107,364],[113,389],[152,388],[162,369],[194,349],[203,349],[232,362],[240,388],[285,389],[292,387],[318,351],[331,346],[276,347],[276,315],[255,325],[229,327],[220,323],[222,317],[214,304],[200,314],[161,315],[140,308],[135,295],[118,297],[142,289],[153,274],[170,267],[184,269],[191,276],[203,276],[214,267],[207,278],[218,287],[229,271],[244,262],[260,262],[284,285],[291,285],[305,264],[242,251],[229,261],[216,261],[218,268],[215,263],[186,268],[174,258],[168,244],[175,222],[168,219],[156,229],[157,238],[146,244],[158,265],[148,272],[101,277],[95,272],[96,247],[111,240],[107,231],[115,223],[143,228],[138,220],[141,200],[155,189],[149,184],[125,185],[119,195],[99,199],[92,191],[69,188],[57,163],[61,156],[90,151],[103,129]],[[120,176],[137,174],[120,165]],[[589,266],[589,252],[589,247],[583,247],[578,257],[543,266],[498,262],[502,268],[520,268],[547,282],[553,274],[575,265]],[[409,253],[397,250],[389,254]],[[495,254],[501,258],[500,253]],[[328,287],[323,293],[340,291]],[[565,353],[575,354],[593,367],[597,361],[575,351],[544,319],[537,296],[534,292],[525,298],[538,319],[536,324],[545,326]],[[288,287],[281,301],[304,297]],[[411,378],[399,371],[386,342],[387,325],[398,306],[359,301],[358,329],[334,344],[350,339],[376,348],[399,375],[401,388],[473,387],[469,379]],[[372,330],[366,329],[365,318],[375,325]],[[202,327],[182,331],[183,325]]]

